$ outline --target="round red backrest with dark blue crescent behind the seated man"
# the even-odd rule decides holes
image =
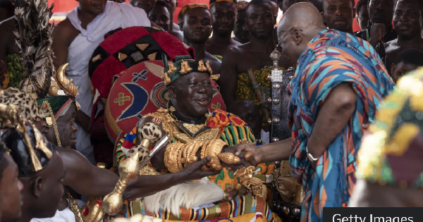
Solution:
[[[116,79],[111,87],[104,111],[106,130],[111,141],[115,142],[124,133],[133,130],[142,116],[166,107],[168,94],[163,80],[161,80],[162,69],[161,61],[144,61],[131,66]],[[142,78],[136,78],[141,73],[144,73]],[[212,87],[214,93],[209,111],[226,109],[221,94],[217,90],[217,85],[213,81]],[[119,104],[119,98],[126,99]],[[225,113],[224,111],[220,112]],[[223,114],[223,118],[229,120],[229,116],[225,115]],[[243,123],[243,121],[241,122]],[[235,124],[241,122],[235,121]],[[127,144],[123,147],[132,146]]]

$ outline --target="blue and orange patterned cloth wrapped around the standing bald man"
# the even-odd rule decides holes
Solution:
[[[336,30],[323,30],[298,59],[291,94],[289,125],[293,152],[293,176],[305,188],[301,221],[321,221],[324,206],[346,206],[355,184],[357,151],[362,124],[372,123],[376,106],[393,89],[381,58],[368,42]],[[314,170],[307,159],[307,138],[321,104],[331,90],[349,84],[357,94],[355,113],[320,156]]]

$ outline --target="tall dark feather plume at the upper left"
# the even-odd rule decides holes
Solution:
[[[23,64],[23,80],[20,88],[34,98],[43,98],[49,92],[53,76],[53,51],[51,31],[53,15],[47,0],[16,0],[16,44]]]

